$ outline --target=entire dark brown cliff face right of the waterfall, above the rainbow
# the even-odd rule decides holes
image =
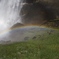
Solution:
[[[59,0],[24,0],[23,3],[20,13],[23,24],[59,25]]]

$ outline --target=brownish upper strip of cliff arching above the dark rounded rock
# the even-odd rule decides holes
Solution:
[[[23,3],[43,3],[59,12],[59,0],[23,0]]]

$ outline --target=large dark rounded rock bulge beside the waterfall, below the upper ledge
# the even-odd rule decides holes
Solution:
[[[21,9],[24,24],[42,24],[56,18],[54,9],[44,3],[25,4]]]

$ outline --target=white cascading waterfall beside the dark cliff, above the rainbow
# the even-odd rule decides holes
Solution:
[[[0,32],[20,22],[22,0],[0,0]]]

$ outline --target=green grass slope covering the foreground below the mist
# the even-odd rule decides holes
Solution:
[[[59,59],[59,33],[28,42],[0,45],[0,59]]]

